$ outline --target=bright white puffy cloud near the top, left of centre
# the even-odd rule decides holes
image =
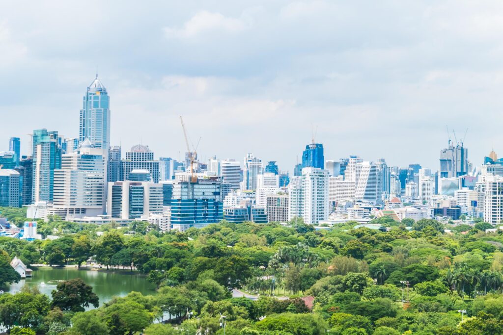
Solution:
[[[209,32],[235,34],[246,29],[248,24],[243,19],[225,17],[221,13],[201,11],[196,13],[183,28],[165,27],[167,38],[191,38]]]

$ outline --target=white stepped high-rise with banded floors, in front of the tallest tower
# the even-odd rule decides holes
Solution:
[[[80,149],[61,158],[61,168],[54,170],[54,200],[49,214],[71,219],[105,213],[107,153],[93,148],[89,139]]]

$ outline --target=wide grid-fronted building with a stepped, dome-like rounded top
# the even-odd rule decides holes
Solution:
[[[129,180],[129,173],[133,170],[148,170],[152,181],[159,182],[159,161],[154,160],[154,153],[148,146],[138,144],[126,152],[126,159],[121,161],[120,180]]]

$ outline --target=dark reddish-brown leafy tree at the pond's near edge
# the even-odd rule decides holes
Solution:
[[[99,305],[98,296],[93,293],[93,287],[82,279],[75,278],[58,283],[57,291],[52,291],[52,306],[72,312],[84,311],[84,307]]]

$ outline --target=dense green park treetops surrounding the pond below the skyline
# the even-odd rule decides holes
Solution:
[[[52,300],[24,289],[0,295],[0,320],[12,333],[40,334],[221,334],[224,324],[235,335],[503,333],[500,233],[484,233],[484,222],[420,220],[410,231],[375,222],[388,231],[222,221],[160,234],[144,222],[97,227],[52,217],[40,227],[56,240],[0,238],[0,266],[14,256],[56,266],[91,258],[147,276],[157,292],[84,311],[98,301],[83,282],[60,283]],[[257,300],[233,298],[232,289]]]

